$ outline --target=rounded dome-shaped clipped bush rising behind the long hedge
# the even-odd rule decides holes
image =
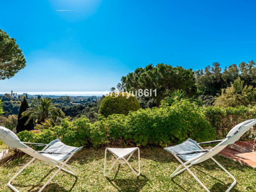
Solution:
[[[112,93],[106,96],[101,106],[99,106],[99,114],[108,117],[112,114],[127,114],[129,111],[137,111],[140,109],[138,100],[130,93]]]

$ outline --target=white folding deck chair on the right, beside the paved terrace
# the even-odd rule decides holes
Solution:
[[[235,185],[237,182],[234,178],[234,176],[229,173],[224,167],[222,167],[221,164],[219,164],[213,156],[219,153],[222,149],[227,147],[229,144],[233,144],[235,141],[239,140],[239,138],[247,132],[247,130],[250,129],[250,127],[254,126],[256,124],[256,119],[250,119],[248,121],[241,122],[237,126],[233,127],[229,134],[227,134],[226,139],[223,140],[214,140],[214,141],[209,141],[209,142],[201,142],[197,143],[196,141],[192,139],[188,139],[182,144],[171,146],[171,147],[165,147],[165,150],[168,152],[172,153],[174,157],[181,163],[180,167],[178,167],[172,174],[171,178],[180,174],[181,172],[188,170],[188,172],[198,181],[198,183],[203,186],[203,188],[209,192],[208,188],[203,185],[203,183],[192,173],[190,170],[190,167],[196,163],[201,163],[204,162],[205,160],[208,160],[208,158],[211,158],[219,167],[222,168],[222,170],[226,171],[226,173],[231,176],[231,178],[234,180],[232,185],[226,190],[230,191],[231,188]],[[208,145],[208,144],[213,144],[217,143],[219,144],[216,145],[213,149],[203,149],[200,145]],[[180,157],[180,158],[179,158]],[[183,163],[182,160],[185,161]],[[184,167],[182,170],[180,170],[182,167]],[[180,170],[180,171],[179,171]]]

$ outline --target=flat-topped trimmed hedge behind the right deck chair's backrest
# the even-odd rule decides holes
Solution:
[[[256,107],[207,107],[205,114],[211,126],[216,130],[216,139],[222,139],[240,122],[255,119]],[[250,133],[247,132],[247,134]],[[241,137],[241,140],[245,137],[247,137],[246,134]]]

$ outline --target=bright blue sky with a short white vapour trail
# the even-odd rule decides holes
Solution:
[[[1,1],[27,66],[0,93],[106,91],[153,63],[198,70],[255,60],[256,1]],[[70,10],[70,11],[63,11]]]

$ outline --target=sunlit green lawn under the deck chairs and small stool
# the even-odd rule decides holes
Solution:
[[[136,155],[137,152],[130,159],[130,164],[137,170]],[[170,178],[179,164],[162,148],[142,148],[140,157],[141,175],[139,177],[135,176],[126,164],[117,164],[109,174],[109,178],[105,178],[103,176],[104,149],[83,149],[70,161],[78,177],[60,171],[43,191],[204,191],[188,171]],[[0,191],[12,191],[7,187],[7,182],[30,159],[29,156],[25,156],[0,166]],[[107,168],[109,168],[114,158],[109,154],[107,159]],[[237,179],[237,185],[231,191],[255,191],[256,170],[254,168],[217,155],[216,160]],[[13,184],[20,191],[38,191],[56,170],[57,168],[53,165],[36,160],[14,180]],[[210,191],[226,191],[232,183],[232,179],[212,160],[195,165],[191,170]]]

